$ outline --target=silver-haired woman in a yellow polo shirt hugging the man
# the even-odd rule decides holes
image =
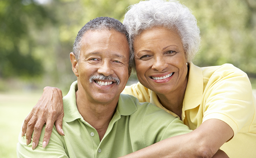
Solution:
[[[123,23],[139,80],[123,93],[154,103],[193,130],[126,157],[211,157],[220,148],[230,158],[256,158],[256,100],[250,81],[231,64],[200,68],[192,63],[200,36],[190,10],[174,0],[141,1],[130,6]],[[63,135],[63,115],[61,91],[46,87],[25,120],[23,135],[30,142],[35,126],[33,141],[38,141],[46,122],[48,141],[56,118]]]

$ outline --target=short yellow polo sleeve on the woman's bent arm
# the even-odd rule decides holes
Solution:
[[[233,129],[234,135],[239,131],[252,132],[250,126],[254,121],[255,105],[250,81],[241,70],[234,70],[231,66],[228,68],[209,79],[209,87],[206,86],[204,92],[203,122],[209,119],[223,120]]]

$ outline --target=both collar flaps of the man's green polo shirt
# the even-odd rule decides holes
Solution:
[[[83,118],[77,109],[76,91],[77,81],[71,84],[70,91],[63,98],[64,120],[66,122],[72,122]],[[137,107],[131,97],[132,96],[130,95],[123,94],[119,96],[116,113],[118,112],[120,115],[127,116],[133,114],[137,110]]]

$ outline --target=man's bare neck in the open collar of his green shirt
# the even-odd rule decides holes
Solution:
[[[89,101],[79,91],[76,92],[76,99],[79,113],[86,122],[97,130],[101,141],[115,113],[118,99],[108,104],[96,103]]]

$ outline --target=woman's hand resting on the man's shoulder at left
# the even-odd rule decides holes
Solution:
[[[24,120],[22,136],[26,133],[26,144],[28,145],[31,142],[31,136],[34,131],[32,149],[34,150],[37,147],[45,124],[44,148],[49,143],[54,122],[58,133],[64,135],[62,130],[63,117],[62,91],[59,88],[45,87],[43,95]]]

